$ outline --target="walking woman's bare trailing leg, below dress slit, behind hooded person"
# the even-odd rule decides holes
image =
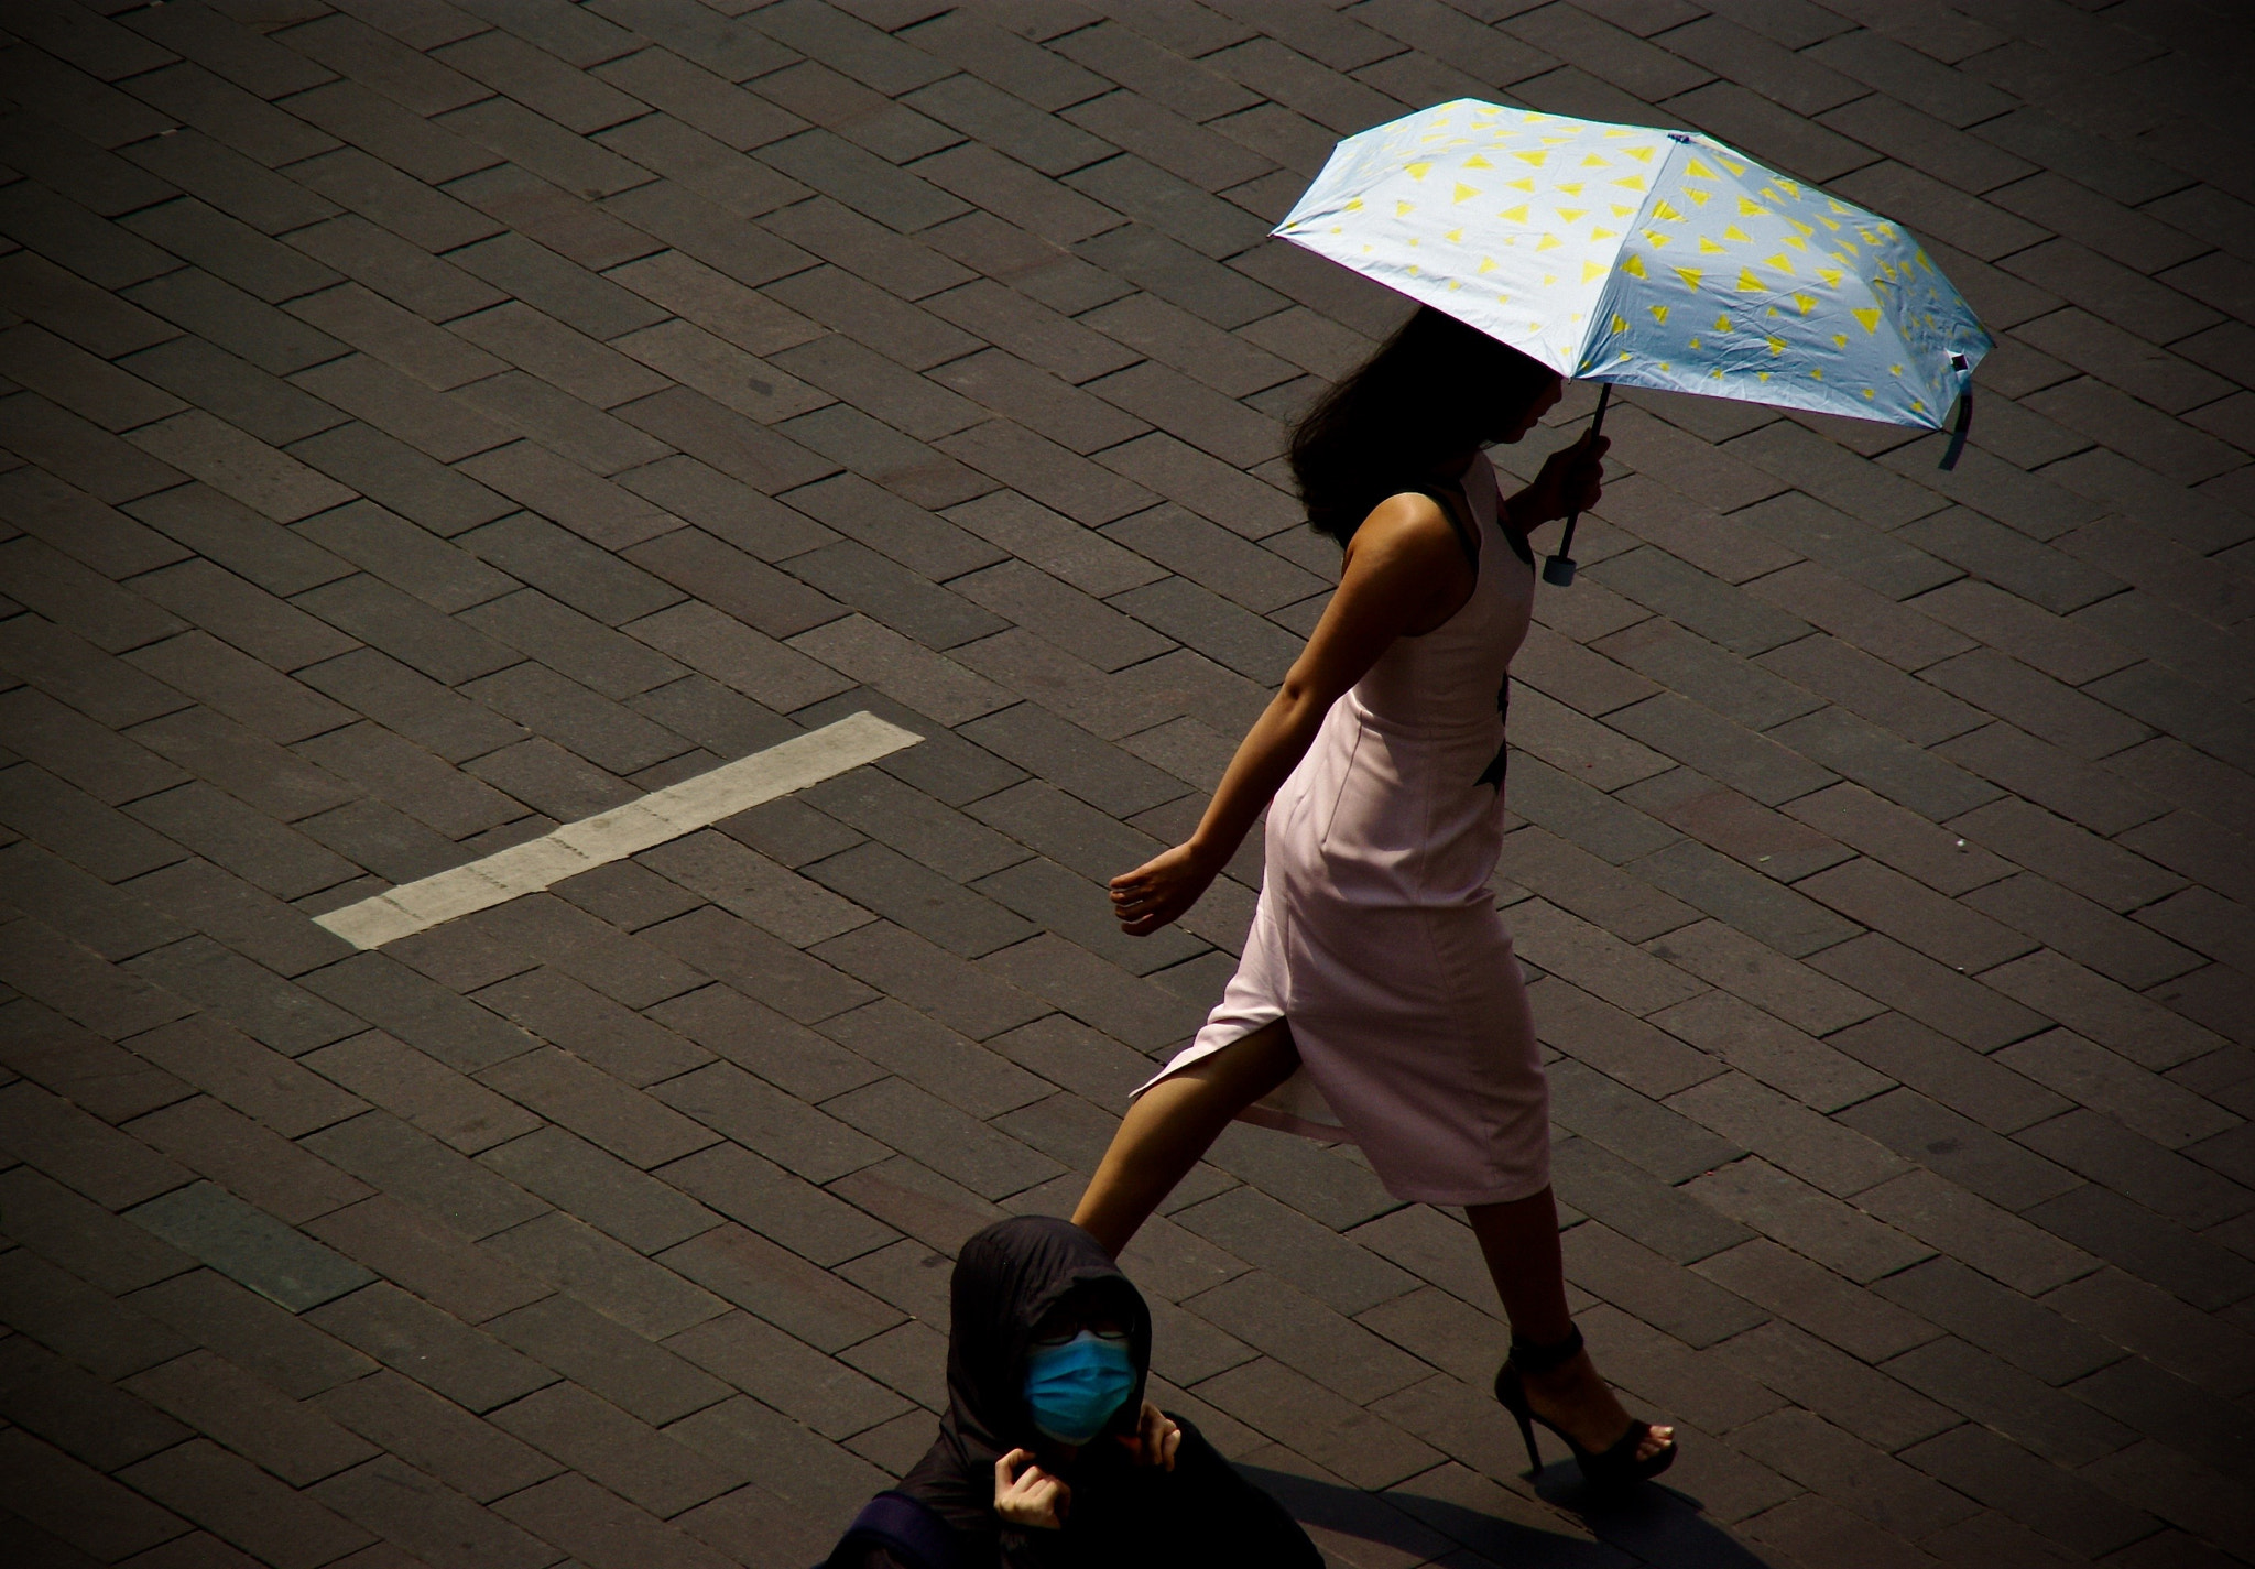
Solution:
[[[1118,1258],[1229,1120],[1297,1066],[1292,1028],[1276,1019],[1146,1089],[1112,1134],[1112,1147],[1073,1208],[1073,1224]]]

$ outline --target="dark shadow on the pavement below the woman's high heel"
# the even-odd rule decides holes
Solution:
[[[1545,1465],[1533,1479],[1536,1492],[1581,1517],[1597,1542],[1484,1515],[1450,1499],[1421,1497],[1416,1483],[1396,1492],[1364,1492],[1261,1465],[1240,1463],[1238,1470],[1303,1526],[1362,1537],[1421,1560],[1468,1546],[1511,1569],[1768,1569],[1757,1553],[1712,1524],[1698,1499],[1660,1483],[1606,1499],[1581,1481],[1572,1461]]]

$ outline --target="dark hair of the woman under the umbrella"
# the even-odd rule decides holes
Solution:
[[[1387,496],[1416,489],[1491,440],[1558,372],[1430,304],[1292,431],[1308,528],[1344,548]]]

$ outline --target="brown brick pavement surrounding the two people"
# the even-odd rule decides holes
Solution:
[[[1164,1398],[1373,1569],[2255,1560],[2232,0],[0,25],[11,1564],[823,1551],[954,1247],[1231,967],[1254,854],[1148,942],[1098,884],[1312,624],[1279,433],[1400,309],[1263,230],[1454,95],[1824,180],[2000,349],[1955,473],[1630,395],[1520,658],[1497,886],[1673,1492],[1518,1479],[1461,1222],[1249,1129],[1128,1260]],[[929,739],[309,920],[859,708]]]

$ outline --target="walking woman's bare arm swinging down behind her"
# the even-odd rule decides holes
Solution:
[[[1184,915],[1238,852],[1245,832],[1315,742],[1339,692],[1362,681],[1394,638],[1430,631],[1473,595],[1475,573],[1441,507],[1394,496],[1355,530],[1308,647],[1238,744],[1186,843],[1112,879],[1112,913],[1130,936]]]

